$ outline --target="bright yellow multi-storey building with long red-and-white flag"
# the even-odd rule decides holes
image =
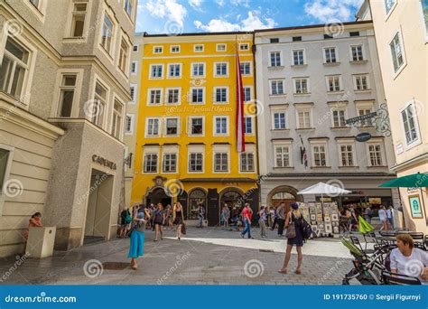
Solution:
[[[131,204],[180,201],[188,222],[200,204],[210,226],[220,208],[258,208],[253,35],[144,35]],[[237,153],[239,52],[246,151]],[[221,205],[221,207],[220,207]]]

